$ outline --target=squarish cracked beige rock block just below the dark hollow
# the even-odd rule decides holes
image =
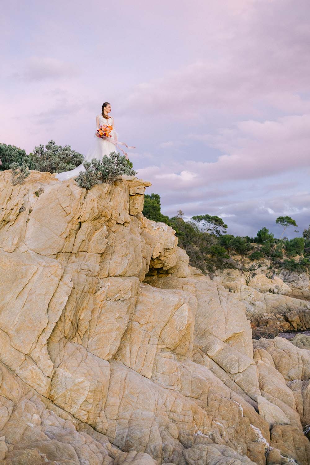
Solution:
[[[116,360],[151,378],[156,352],[191,351],[194,317],[185,292],[141,284],[135,312],[123,336]]]

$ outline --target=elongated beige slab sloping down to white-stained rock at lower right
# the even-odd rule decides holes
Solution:
[[[249,422],[262,430],[269,440],[265,421],[244,399],[223,385],[211,370],[188,360],[177,361],[171,352],[156,354],[152,379],[165,388],[180,392],[195,402],[212,418],[213,441],[233,447],[241,454],[253,449],[256,437]],[[199,430],[198,430],[199,431]],[[195,437],[200,437],[198,432]],[[217,438],[217,439],[216,439]],[[257,455],[259,455],[257,453]],[[264,457],[261,456],[261,459]]]

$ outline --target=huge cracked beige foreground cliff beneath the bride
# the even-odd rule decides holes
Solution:
[[[253,350],[145,186],[0,173],[0,464],[309,463],[310,352]]]

